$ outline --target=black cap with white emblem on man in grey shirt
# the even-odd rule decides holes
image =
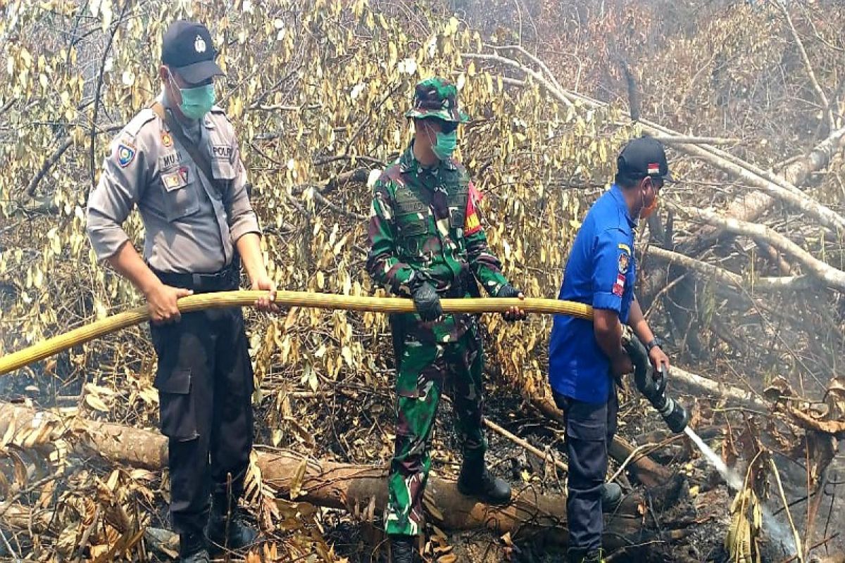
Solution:
[[[161,40],[161,62],[191,84],[223,73],[215,62],[216,57],[209,29],[194,21],[177,19]]]

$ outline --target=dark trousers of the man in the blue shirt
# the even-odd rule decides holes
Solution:
[[[570,553],[602,547],[602,485],[608,474],[608,444],[616,434],[619,399],[615,387],[607,403],[584,403],[554,393],[564,411],[566,452],[570,473],[567,481],[566,519]]]

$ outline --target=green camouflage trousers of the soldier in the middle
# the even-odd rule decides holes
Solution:
[[[450,389],[464,458],[483,457],[482,341],[473,327],[453,342],[422,343],[412,335],[395,346],[396,440],[390,462],[384,529],[417,535],[423,527],[423,492],[434,418],[444,386]]]

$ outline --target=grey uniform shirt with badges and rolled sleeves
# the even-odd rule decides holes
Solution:
[[[160,272],[220,271],[232,262],[237,239],[260,234],[235,131],[223,110],[215,106],[183,133],[208,157],[214,184],[149,108],[112,141],[88,199],[86,229],[100,260],[128,241],[121,225],[134,205],[144,222],[144,260]]]

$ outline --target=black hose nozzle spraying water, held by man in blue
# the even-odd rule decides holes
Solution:
[[[684,406],[668,397],[666,394],[666,380],[668,373],[658,371],[655,374],[651,361],[648,359],[646,347],[636,338],[630,328],[625,328],[622,334],[622,347],[628,353],[634,365],[634,382],[651,406],[666,421],[669,429],[679,434],[684,431],[690,415]]]

